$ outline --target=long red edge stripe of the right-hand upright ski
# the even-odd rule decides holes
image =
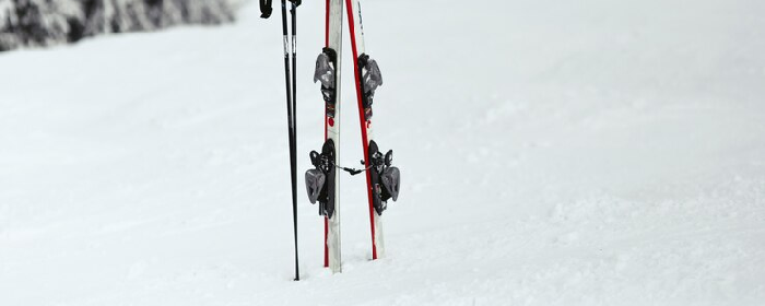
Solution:
[[[362,141],[364,143],[364,164],[365,167],[369,167],[369,141],[366,134],[366,120],[364,119],[364,105],[362,97],[362,80],[358,75],[358,50],[356,49],[356,28],[354,23],[354,12],[353,12],[353,1],[345,0],[345,5],[348,7],[348,23],[351,28],[351,48],[353,49],[353,75],[356,79],[356,98],[358,99],[358,122],[362,127]],[[375,208],[372,200],[372,176],[369,172],[366,172],[366,195],[369,200],[369,227],[372,228],[372,259],[377,259],[377,245],[375,243]]]

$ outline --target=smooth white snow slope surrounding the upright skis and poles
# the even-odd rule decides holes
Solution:
[[[301,173],[323,136],[304,2]],[[301,282],[278,14],[3,54],[0,305],[763,305],[765,2],[466,3],[364,1],[403,172],[388,257],[344,176],[322,269],[301,185]]]

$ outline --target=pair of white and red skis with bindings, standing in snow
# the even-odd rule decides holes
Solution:
[[[362,161],[363,169],[338,165],[343,4],[348,13],[354,59],[358,119],[365,156]],[[306,172],[306,189],[310,202],[318,201],[319,214],[325,216],[325,267],[337,273],[342,271],[338,170],[345,170],[351,175],[364,173],[366,176],[373,260],[385,256],[382,212],[387,209],[389,199],[398,199],[400,184],[400,172],[391,166],[392,151],[382,154],[373,140],[372,104],[375,91],[382,85],[382,76],[377,62],[365,54],[358,0],[327,0],[325,48],[316,60],[314,82],[321,83],[321,95],[326,106],[325,144],[321,153],[310,153],[315,168]]]

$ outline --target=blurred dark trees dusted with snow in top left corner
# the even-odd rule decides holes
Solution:
[[[0,51],[234,20],[235,0],[0,0]],[[238,1],[238,0],[236,0]]]

